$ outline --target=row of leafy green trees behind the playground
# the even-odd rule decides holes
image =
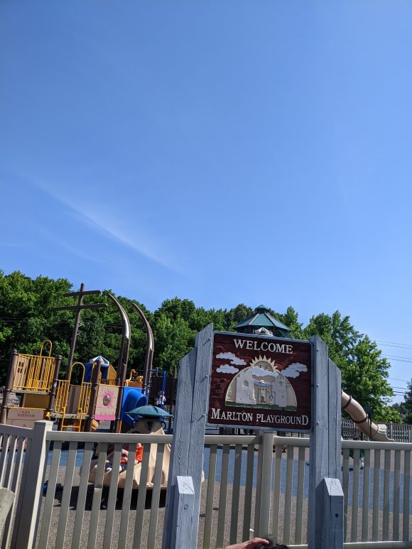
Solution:
[[[4,385],[12,349],[20,353],[38,354],[44,339],[53,342],[53,356],[63,357],[62,375],[67,368],[74,313],[54,308],[75,305],[75,298],[63,297],[74,291],[66,278],[53,280],[47,276],[30,278],[19,271],[5,275],[0,271],[0,384]],[[85,303],[107,303],[107,308],[85,309],[75,349],[75,361],[87,362],[101,354],[117,365],[121,344],[121,318],[108,293],[112,293],[129,315],[131,347],[129,367],[141,369],[146,351],[146,332],[132,308],[129,298],[104,290],[102,295],[88,295]],[[234,331],[238,322],[254,313],[254,308],[239,303],[232,309],[196,307],[192,300],[170,298],[154,312],[138,303],[150,322],[155,339],[153,367],[170,374],[178,372],[180,358],[195,343],[195,335],[213,323],[215,330]],[[388,382],[389,362],[381,357],[376,342],[355,330],[348,316],[339,311],[332,315],[320,313],[308,325],[299,321],[298,312],[269,310],[291,329],[291,337],[308,339],[319,335],[329,347],[330,358],[342,373],[342,388],[362,406],[372,408],[376,421],[401,421],[399,406],[390,405],[394,396]],[[411,398],[412,399],[412,398]]]

